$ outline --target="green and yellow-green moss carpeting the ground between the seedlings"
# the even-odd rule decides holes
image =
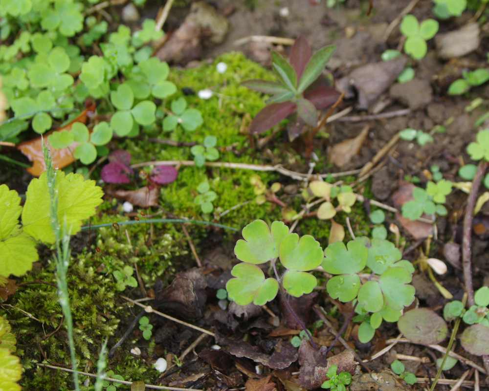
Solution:
[[[215,65],[220,61],[228,65],[224,74],[216,71]],[[225,54],[215,63],[201,65],[196,69],[172,70],[171,80],[180,90],[189,87],[197,92],[200,89],[211,88],[220,95],[215,95],[209,100],[200,99],[197,95],[185,97],[190,107],[195,107],[202,112],[204,124],[195,132],[184,132],[178,129],[164,133],[160,129],[152,129],[145,134],[149,137],[198,143],[202,143],[206,135],[215,135],[218,138],[218,147],[232,146],[234,151],[221,152],[219,161],[264,164],[261,152],[252,149],[248,137],[240,133],[247,113],[252,117],[264,105],[262,94],[239,85],[243,80],[251,78],[274,79],[271,72],[237,53]],[[177,94],[172,99],[177,99],[179,96]],[[121,142],[118,148],[131,152],[133,163],[192,159],[189,147],[166,146],[145,139],[126,140]],[[287,145],[277,143],[272,151],[277,161],[285,162],[287,151],[287,156],[293,156],[299,163],[305,163],[302,157],[289,150]],[[319,164],[326,163],[321,161]],[[181,167],[178,179],[162,188],[160,204],[166,211],[176,216],[214,220],[220,213],[245,201],[254,200],[256,195],[249,180],[251,174],[260,175],[262,181],[268,186],[275,181],[294,183],[290,178],[281,177],[273,172]],[[194,198],[198,195],[197,187],[202,181],[208,181],[210,189],[218,195],[214,201],[213,216],[203,215],[200,207],[194,203]],[[300,196],[284,197],[284,201],[297,212],[304,204]],[[153,208],[146,210],[145,213],[151,215],[157,211]],[[361,205],[356,205],[349,216],[358,235],[368,234],[370,224]],[[128,219],[129,217],[123,215],[120,201],[107,200],[99,208],[98,214],[92,217],[91,224]],[[241,231],[254,219],[263,219],[267,222],[281,220],[282,208],[270,202],[263,205],[249,202],[225,214],[218,219],[218,222]],[[335,217],[335,220],[344,226],[346,226],[345,219],[344,213]],[[296,231],[314,236],[323,247],[326,247],[330,226],[331,222],[328,220],[309,217],[299,222]],[[119,292],[112,275],[113,270],[125,265],[137,264],[145,285],[151,287],[158,278],[166,283],[175,271],[195,266],[189,253],[187,240],[178,224],[161,223],[154,224],[152,230],[149,228],[149,224],[144,223],[144,218],[141,216],[139,224],[120,226],[120,230],[111,227],[100,228],[97,231],[97,238],[92,239],[91,247],[86,240],[85,246],[82,246],[85,247],[83,251],[72,257],[68,269],[68,286],[80,370],[96,371],[96,360],[104,340],[109,338],[109,346],[111,346],[122,335],[125,325],[133,317],[124,301],[118,298]],[[219,230],[218,236],[221,240],[230,241],[235,235],[233,231]],[[153,232],[152,238],[150,238],[150,231]],[[199,251],[200,248],[209,247],[208,238],[216,229],[195,224],[189,227],[189,231]],[[127,237],[131,240],[131,245]],[[95,251],[96,247],[100,249],[100,253]],[[38,264],[38,268],[28,273],[19,283],[43,281],[55,284],[55,269],[49,258],[50,252],[44,251],[44,257]],[[138,288],[128,287],[125,294],[131,294],[131,289],[135,291]],[[15,308],[0,310],[0,315],[9,320],[18,338],[17,354],[22,357],[25,370],[21,384],[25,390],[58,391],[71,387],[69,373],[35,365],[46,357],[50,363],[69,366],[66,328],[62,326],[57,333],[43,340],[45,335],[58,327],[62,319],[62,310],[57,302],[56,292],[56,287],[51,285],[26,284],[10,301]],[[27,317],[21,310],[32,314],[37,320]],[[152,369],[150,362],[151,357],[146,361],[141,356],[130,354],[129,349],[120,349],[116,359],[109,363],[108,369],[123,374],[128,380],[140,379],[147,383],[154,383],[157,373]],[[85,377],[82,377],[83,381]]]

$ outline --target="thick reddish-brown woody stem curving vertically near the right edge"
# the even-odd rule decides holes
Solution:
[[[464,284],[468,295],[468,305],[472,306],[474,302],[474,287],[472,285],[472,222],[474,218],[474,208],[477,202],[477,193],[482,181],[482,177],[488,168],[489,163],[486,160],[481,160],[477,167],[472,188],[467,199],[467,210],[464,217],[464,236],[462,239],[462,265],[464,268]],[[489,355],[482,356],[484,368],[489,374]],[[489,377],[488,377],[489,379]]]

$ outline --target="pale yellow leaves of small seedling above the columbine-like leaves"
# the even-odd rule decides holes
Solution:
[[[309,184],[309,189],[314,196],[325,200],[317,210],[317,218],[322,220],[333,218],[338,211],[350,213],[356,202],[356,195],[350,186],[337,188],[327,182],[316,180]],[[338,200],[336,207],[331,202],[333,198]]]

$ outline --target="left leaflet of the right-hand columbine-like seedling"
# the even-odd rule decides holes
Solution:
[[[367,248],[353,240],[347,246],[336,241],[324,250],[324,255],[323,269],[331,274],[339,274],[326,284],[330,296],[344,303],[355,299],[360,289],[360,277],[356,273],[362,271],[367,263]]]

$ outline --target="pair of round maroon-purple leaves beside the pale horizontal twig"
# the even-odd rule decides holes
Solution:
[[[131,168],[131,153],[122,150],[109,154],[109,164],[105,165],[100,176],[106,183],[135,182],[134,171]],[[178,171],[173,166],[156,166],[150,174],[150,179],[160,185],[174,182]]]

